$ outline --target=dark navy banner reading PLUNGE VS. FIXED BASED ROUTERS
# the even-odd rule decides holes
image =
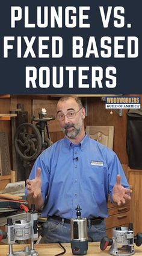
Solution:
[[[140,1],[5,0],[0,94],[141,94]]]

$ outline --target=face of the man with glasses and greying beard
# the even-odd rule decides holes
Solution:
[[[76,113],[75,116],[73,118],[69,118],[73,113]],[[60,120],[59,118],[61,130],[63,130],[64,134],[68,138],[75,139],[84,124],[84,108],[80,109],[78,103],[76,103],[74,99],[70,98],[69,100],[61,101],[57,104],[57,115],[60,117],[65,115],[63,120]],[[69,115],[69,117],[66,115]]]

